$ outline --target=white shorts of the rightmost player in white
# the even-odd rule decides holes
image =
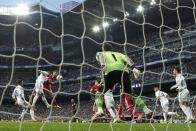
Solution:
[[[178,92],[179,102],[189,102],[189,100],[190,100],[190,93],[188,89],[183,89],[182,91]]]

